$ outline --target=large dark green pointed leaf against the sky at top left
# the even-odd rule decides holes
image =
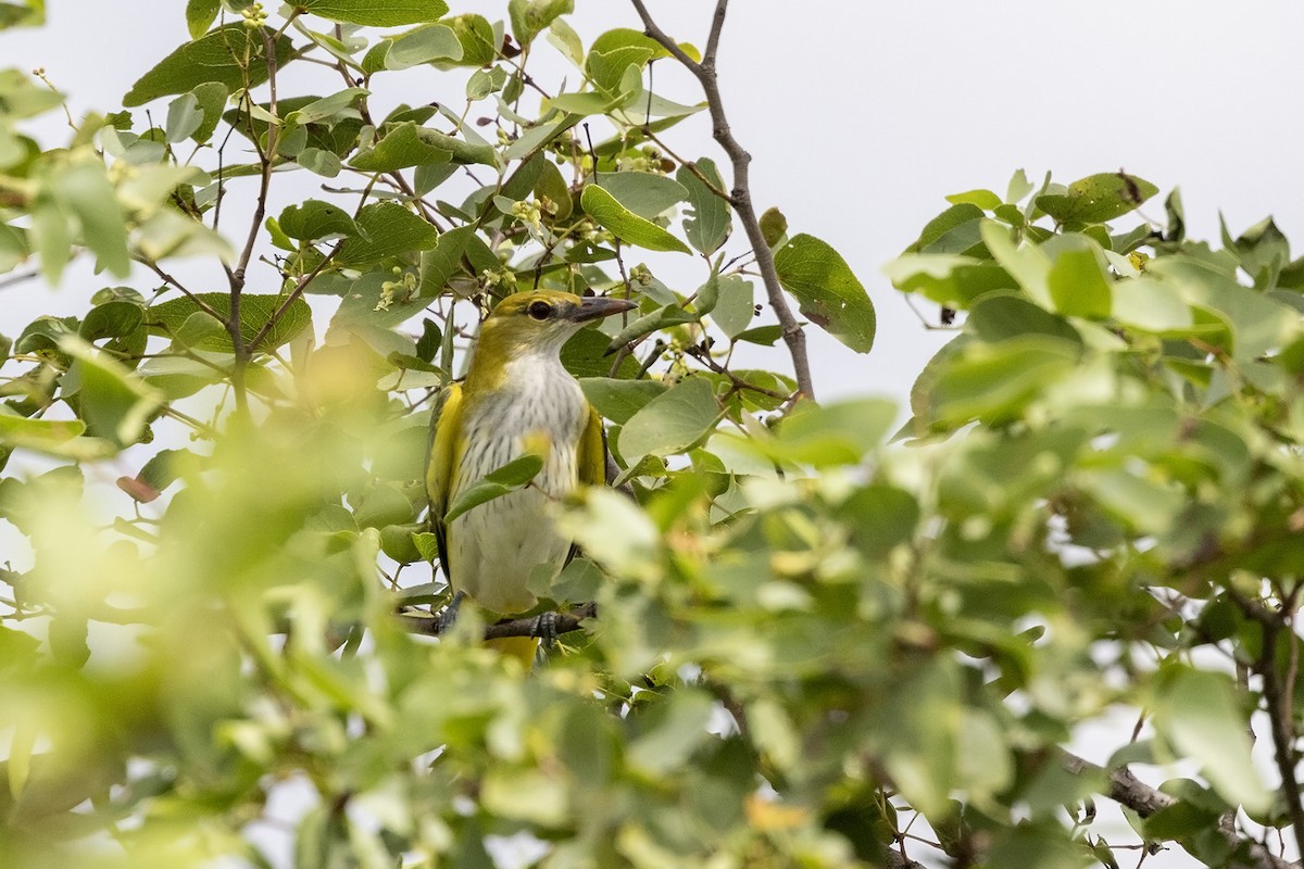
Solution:
[[[262,57],[263,34],[269,38],[275,35],[270,29],[254,33],[243,22],[236,22],[181,46],[132,85],[123,106],[143,106],[159,96],[184,94],[205,82],[219,82],[228,91],[240,90],[246,83],[250,87],[261,85],[267,81],[267,64]],[[276,38],[275,53],[278,68],[291,60],[293,46],[288,36]],[[243,69],[246,56],[248,69]]]

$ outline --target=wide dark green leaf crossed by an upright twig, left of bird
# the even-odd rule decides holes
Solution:
[[[231,317],[231,296],[228,293],[196,293],[196,298],[206,302],[220,317]],[[245,341],[253,341],[284,302],[284,296],[243,294],[240,297],[240,334],[244,335]],[[203,340],[190,349],[231,353],[231,336],[226,332],[226,327],[220,321],[206,314],[198,302],[189,297],[173,298],[147,307],[145,322],[153,334],[173,337],[183,332],[186,321],[194,315],[200,315],[201,321],[207,321],[210,327],[216,326],[220,331],[205,330]],[[310,327],[312,309],[308,307],[308,302],[303,298],[297,298],[286,309],[262,343],[252,349],[258,352],[275,349],[282,344],[292,341],[304,330]]]

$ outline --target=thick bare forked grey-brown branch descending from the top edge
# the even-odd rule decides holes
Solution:
[[[711,35],[707,39],[707,53],[703,55],[702,63],[694,61],[689,57],[679,46],[670,39],[669,35],[652,20],[648,13],[647,7],[643,0],[630,0],[634,4],[635,12],[639,13],[639,18],[643,20],[644,33],[649,39],[653,39],[657,44],[670,52],[670,56],[678,60],[681,64],[691,72],[698,82],[702,85],[702,90],[707,98],[707,107],[711,111],[711,124],[712,133],[720,147],[724,149],[725,154],[729,156],[729,162],[733,164],[734,184],[733,192],[729,195],[729,201],[733,205],[734,212],[738,215],[738,220],[742,223],[743,229],[747,232],[747,241],[751,244],[752,253],[756,255],[756,267],[760,270],[760,278],[765,284],[765,296],[769,300],[769,306],[775,310],[775,317],[778,319],[778,326],[782,328],[784,343],[788,345],[788,353],[793,358],[793,374],[797,378],[797,391],[806,397],[815,397],[815,387],[811,382],[810,361],[806,356],[806,332],[802,330],[802,324],[797,322],[793,317],[792,309],[788,306],[788,300],[784,296],[784,288],[778,283],[778,272],[775,268],[775,254],[769,250],[769,245],[765,244],[765,236],[760,231],[760,220],[756,218],[756,210],[751,203],[751,181],[748,177],[747,167],[751,163],[751,155],[738,143],[734,138],[732,129],[729,128],[729,120],[725,117],[724,100],[720,96],[720,82],[716,77],[716,53],[720,48],[720,34],[725,23],[725,12],[729,5],[729,0],[717,0],[715,18],[711,22]]]

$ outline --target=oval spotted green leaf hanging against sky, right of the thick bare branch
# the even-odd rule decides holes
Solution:
[[[870,352],[874,302],[836,250],[814,236],[798,235],[775,254],[775,270],[802,315],[857,353]]]

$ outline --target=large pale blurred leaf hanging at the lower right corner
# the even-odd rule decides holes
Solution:
[[[1167,674],[1153,706],[1155,727],[1197,761],[1230,805],[1262,812],[1271,805],[1251,758],[1247,715],[1222,674],[1181,667]]]

